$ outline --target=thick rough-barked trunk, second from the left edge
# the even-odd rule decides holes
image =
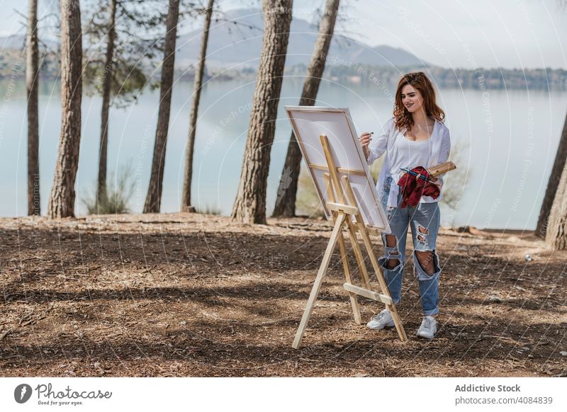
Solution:
[[[74,217],[81,144],[83,48],[79,0],[61,0],[61,135],[47,215]]]

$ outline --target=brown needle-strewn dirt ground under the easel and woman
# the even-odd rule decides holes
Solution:
[[[0,219],[0,375],[566,376],[567,251],[527,232],[441,229],[432,341],[415,336],[411,261],[402,343],[354,324],[337,248],[294,350],[330,231],[201,214]],[[364,321],[383,309],[359,302]]]

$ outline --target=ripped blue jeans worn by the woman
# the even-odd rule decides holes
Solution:
[[[417,279],[420,283],[420,296],[424,316],[436,315],[439,313],[439,276],[441,275],[441,267],[439,266],[439,256],[435,250],[435,241],[439,232],[439,222],[441,213],[437,202],[418,203],[416,207],[401,208],[402,202],[401,190],[398,193],[398,206],[388,207],[388,194],[392,184],[392,176],[386,177],[381,195],[381,203],[388,216],[391,233],[395,235],[395,246],[388,247],[386,244],[386,235],[382,234],[384,245],[384,256],[378,259],[382,267],[382,273],[390,290],[394,304],[400,303],[403,268],[405,265],[405,241],[408,235],[408,226],[412,229],[413,239],[413,263],[417,270]],[[422,265],[417,260],[415,251],[432,251],[434,273],[427,275]],[[395,259],[398,265],[394,268],[388,268],[388,259]]]

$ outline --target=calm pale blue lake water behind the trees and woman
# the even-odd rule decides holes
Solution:
[[[60,132],[58,84],[40,88],[40,175],[42,212],[47,207]],[[271,150],[268,212],[271,212],[291,127],[283,105],[296,105],[302,83],[286,79],[281,93],[276,137]],[[193,177],[193,203],[229,214],[237,192],[254,84],[210,82],[201,95]],[[192,84],[174,86],[167,143],[162,212],[179,210],[183,156],[189,125]],[[1,216],[26,214],[26,87],[22,79],[0,81]],[[357,130],[379,132],[392,103],[377,86],[324,83],[319,105],[348,107]],[[108,171],[130,162],[135,174],[134,211],[142,210],[150,176],[159,91],[142,93],[138,103],[111,112]],[[543,91],[442,90],[451,140],[458,147],[457,166],[466,173],[447,184],[459,194],[456,212],[443,208],[442,224],[533,229],[554,161],[567,110],[567,93]],[[82,142],[77,175],[80,202],[94,192],[101,99],[83,100]],[[463,188],[462,179],[468,183]]]

